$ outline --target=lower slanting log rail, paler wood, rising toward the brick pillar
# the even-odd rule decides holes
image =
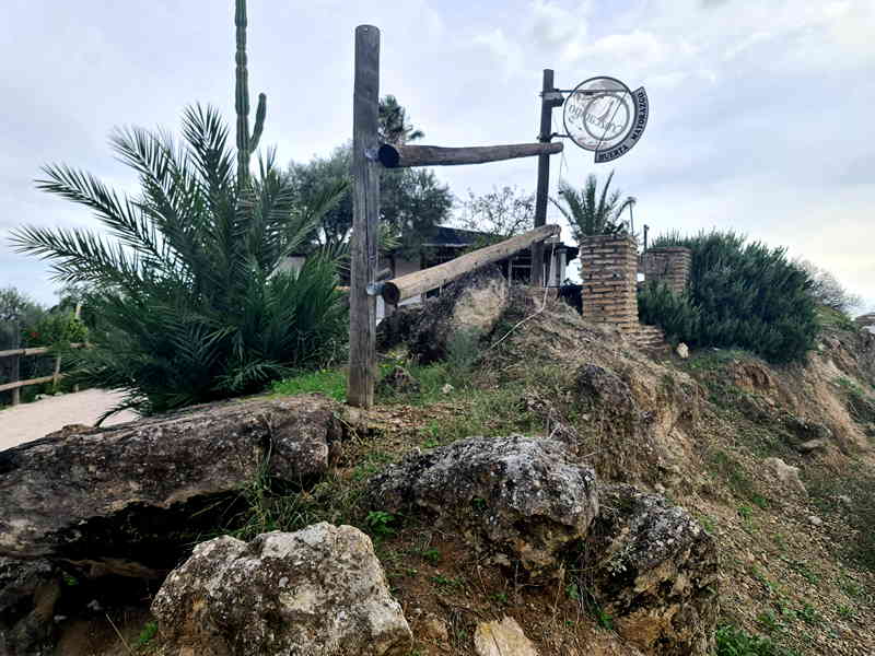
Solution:
[[[559,232],[560,227],[558,225],[541,225],[523,235],[516,235],[492,246],[478,248],[443,265],[387,280],[382,283],[381,294],[386,303],[397,305],[406,298],[447,284],[468,271],[502,260],[514,253],[528,248],[536,242],[542,242],[558,235]]]

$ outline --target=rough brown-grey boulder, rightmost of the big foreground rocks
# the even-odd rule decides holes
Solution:
[[[705,656],[718,621],[714,540],[679,507],[629,485],[604,489],[584,566],[616,631],[653,656]]]

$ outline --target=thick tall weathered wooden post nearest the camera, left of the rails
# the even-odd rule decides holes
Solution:
[[[355,82],[352,97],[352,239],[349,294],[349,385],[347,402],[370,408],[376,375],[376,296],[368,288],[376,277],[380,221],[380,30],[355,28]]]

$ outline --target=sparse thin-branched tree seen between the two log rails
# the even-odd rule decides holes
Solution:
[[[474,245],[474,248],[482,248],[532,230],[534,221],[535,195],[504,186],[501,189],[493,187],[492,191],[479,196],[468,189],[459,227],[485,233],[485,237]]]

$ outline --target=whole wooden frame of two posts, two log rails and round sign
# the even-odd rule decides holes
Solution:
[[[544,284],[544,241],[560,232],[558,225],[546,225],[550,155],[562,152],[563,148],[562,143],[552,142],[552,138],[557,136],[552,133],[555,107],[564,105],[563,121],[568,132],[558,136],[571,138],[581,148],[596,151],[596,162],[608,162],[627,152],[634,145],[646,125],[646,94],[643,87],[632,94],[622,82],[612,78],[593,78],[579,84],[573,91],[562,91],[553,87],[553,72],[547,69],[544,71],[541,89],[540,133],[537,143],[465,148],[381,144],[377,136],[380,30],[373,25],[360,25],[355,28],[355,83],[352,103],[353,220],[347,388],[347,402],[351,406],[370,408],[374,402],[377,295],[382,295],[387,303],[397,304],[525,248],[532,248],[532,284]],[[569,93],[571,95],[565,99],[563,94]],[[569,107],[572,108],[571,113]],[[380,173],[383,168],[482,164],[530,156],[538,157],[535,230],[438,267],[393,280],[377,280],[377,272],[381,270],[377,262]]]

